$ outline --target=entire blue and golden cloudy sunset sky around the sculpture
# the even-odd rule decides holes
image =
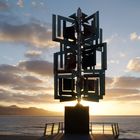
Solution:
[[[0,0],[0,105],[61,112],[54,100],[52,14],[69,16],[80,7],[100,13],[107,42],[106,95],[84,102],[93,115],[140,115],[139,0]]]

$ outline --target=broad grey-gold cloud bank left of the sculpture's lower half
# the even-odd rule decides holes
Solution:
[[[15,92],[46,93],[52,85],[52,67],[52,63],[43,60],[0,65],[0,87]]]

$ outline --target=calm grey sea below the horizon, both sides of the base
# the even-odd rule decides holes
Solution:
[[[63,122],[62,116],[0,116],[0,135],[42,136],[46,123]],[[140,116],[91,116],[91,122],[116,122],[119,138],[140,139]]]

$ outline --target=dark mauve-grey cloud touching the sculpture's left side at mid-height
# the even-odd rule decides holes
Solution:
[[[53,64],[44,60],[22,61],[18,66],[26,71],[40,75],[53,75]]]

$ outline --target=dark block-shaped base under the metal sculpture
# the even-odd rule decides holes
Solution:
[[[89,134],[89,107],[65,107],[65,134]]]

